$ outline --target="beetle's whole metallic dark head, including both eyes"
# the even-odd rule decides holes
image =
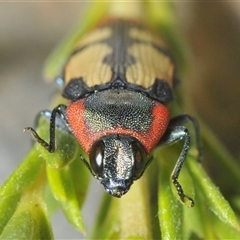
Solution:
[[[90,165],[105,191],[115,197],[128,192],[146,166],[146,153],[135,138],[112,134],[94,143]]]

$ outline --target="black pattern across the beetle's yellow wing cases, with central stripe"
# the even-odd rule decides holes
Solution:
[[[133,91],[145,92],[151,98],[161,102],[167,103],[173,100],[173,93],[172,89],[169,84],[164,81],[164,79],[156,79],[154,84],[149,88],[144,88],[140,85],[133,84],[127,82],[126,79],[126,69],[131,64],[136,63],[136,59],[128,53],[128,48],[132,44],[146,44],[150,45],[155,48],[157,51],[163,53],[164,55],[168,56],[170,60],[174,63],[173,57],[171,53],[164,49],[163,47],[148,41],[142,41],[137,38],[132,38],[129,36],[129,30],[134,27],[138,29],[144,29],[140,25],[132,24],[128,21],[120,20],[118,22],[113,22],[108,25],[104,25],[104,27],[111,27],[112,28],[112,36],[106,38],[104,40],[91,42],[90,44],[86,44],[79,49],[75,50],[70,58],[82,50],[93,46],[95,44],[103,43],[110,46],[113,51],[112,54],[106,55],[103,58],[103,63],[110,65],[112,70],[112,77],[109,79],[109,82],[104,84],[96,84],[95,86],[88,87],[87,84],[84,83],[84,79],[81,77],[79,79],[72,79],[69,81],[68,85],[65,87],[66,89],[63,92],[63,96],[70,100],[76,100],[80,98],[86,97],[86,95],[93,93],[94,91],[102,91],[109,88],[123,88],[123,89],[130,89]],[[120,36],[120,37],[119,37]],[[161,63],[159,63],[161,64]],[[94,70],[93,70],[94,71]],[[63,75],[64,76],[64,75]],[[77,85],[74,86],[74,81]],[[173,80],[173,85],[175,81]],[[81,89],[82,87],[82,89]],[[77,93],[76,89],[79,89],[79,93]]]

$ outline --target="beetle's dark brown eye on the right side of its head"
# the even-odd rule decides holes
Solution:
[[[132,174],[134,177],[139,178],[145,168],[146,153],[142,144],[138,141],[132,143],[132,151],[134,159]]]

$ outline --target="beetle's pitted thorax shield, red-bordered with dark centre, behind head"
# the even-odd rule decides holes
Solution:
[[[111,134],[136,138],[148,153],[169,121],[166,106],[126,89],[95,92],[71,103],[66,113],[71,131],[88,154],[94,142]]]

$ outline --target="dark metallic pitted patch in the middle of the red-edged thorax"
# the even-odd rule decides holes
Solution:
[[[145,133],[153,121],[153,101],[139,92],[109,89],[89,95],[84,119],[93,132],[123,127]]]

